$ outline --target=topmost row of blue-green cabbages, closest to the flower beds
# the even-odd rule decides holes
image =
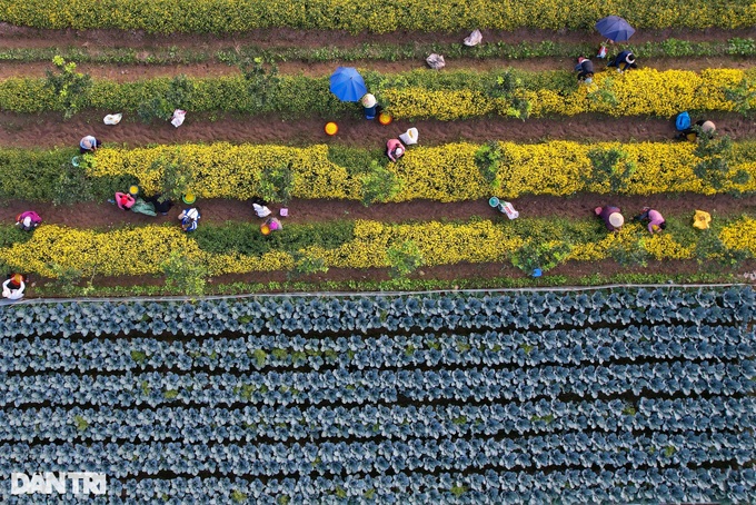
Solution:
[[[494,315],[500,320],[494,328],[511,326],[525,329],[554,328],[557,325],[584,327],[599,323],[742,323],[752,319],[755,304],[756,295],[747,287],[496,295],[448,293],[394,298],[380,295],[359,298],[267,297],[198,303],[42,303],[2,308],[0,337],[458,330],[487,327],[489,317]]]

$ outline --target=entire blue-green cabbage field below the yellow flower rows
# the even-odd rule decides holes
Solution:
[[[105,473],[87,503],[754,503],[755,301],[663,287],[9,306],[0,472]]]

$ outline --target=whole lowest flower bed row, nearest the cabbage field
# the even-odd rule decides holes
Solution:
[[[628,255],[641,261],[648,258],[717,259],[733,254],[750,257],[756,253],[756,220],[753,218],[729,221],[719,218],[717,231],[704,235],[693,230],[689,217],[667,220],[667,230],[655,236],[648,236],[637,224],[627,224],[618,234],[607,234],[596,219],[520,218],[514,222],[472,220],[467,224],[401,225],[358,220],[351,237],[340,245],[331,241],[324,247],[315,240],[310,245],[306,241],[289,245],[286,242],[287,229],[284,229],[278,247],[263,246],[265,251],[258,248],[259,253],[251,254],[246,253],[255,250],[255,242],[262,240],[259,230],[255,231],[256,224],[232,227],[233,234],[249,237],[250,244],[227,240],[215,245],[218,235],[211,225],[202,225],[195,235],[183,234],[178,226],[98,232],[42,225],[30,239],[0,248],[0,259],[27,273],[57,277],[60,268],[94,270],[106,276],[160,274],[161,265],[172,250],[206,265],[210,275],[290,270],[299,255],[322,260],[327,267],[389,267],[389,250],[407,242],[417,246],[422,264],[428,266],[505,261],[526,246],[553,250],[566,245],[566,260],[600,260]],[[202,240],[202,230],[210,240]]]

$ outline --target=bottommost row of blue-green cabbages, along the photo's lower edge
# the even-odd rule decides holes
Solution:
[[[109,489],[128,497],[89,499],[93,505],[146,503],[707,503],[726,494],[733,503],[750,503],[756,473],[752,468],[637,468],[614,471],[485,472],[242,479],[176,477],[112,481]],[[723,489],[725,489],[723,492]],[[289,496],[294,496],[289,499]],[[79,504],[68,495],[49,503]],[[13,496],[9,503],[27,502]]]

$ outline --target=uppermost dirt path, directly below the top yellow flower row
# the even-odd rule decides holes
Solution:
[[[567,30],[529,30],[515,31],[481,30],[484,42],[600,42],[595,31]],[[396,31],[391,33],[358,33],[352,36],[346,31],[326,30],[294,30],[289,28],[259,29],[229,36],[208,34],[149,34],[140,30],[38,30],[33,28],[14,27],[0,23],[0,46],[4,48],[47,48],[47,47],[118,47],[118,48],[151,48],[177,47],[197,49],[220,49],[229,46],[257,44],[261,48],[271,47],[358,47],[364,43],[434,43],[461,42],[469,31],[454,33]],[[665,29],[638,30],[633,36],[634,43],[660,41],[676,38],[690,41],[717,41],[734,37],[755,38],[756,27],[750,29],[724,30],[708,28],[705,30]]]

